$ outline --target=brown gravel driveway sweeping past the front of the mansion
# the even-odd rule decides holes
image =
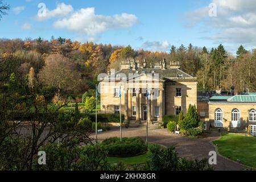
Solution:
[[[98,134],[99,140],[109,137],[119,137],[119,129]],[[122,137],[141,137],[146,140],[146,130],[143,128],[123,129]],[[208,159],[209,151],[215,151],[214,146],[210,142],[219,137],[220,134],[216,132],[210,134],[208,138],[196,139],[171,134],[166,129],[152,129],[148,131],[148,142],[158,143],[166,147],[174,146],[179,155],[187,159]],[[217,155],[217,165],[214,165],[214,168],[218,171],[240,171],[246,167]]]

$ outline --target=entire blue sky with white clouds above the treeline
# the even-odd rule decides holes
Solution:
[[[240,44],[247,49],[256,45],[253,0],[4,1],[11,10],[0,21],[0,38],[61,36],[151,51],[222,43],[234,53]],[[39,3],[46,5],[43,18],[38,17]],[[209,16],[210,10],[216,16]]]

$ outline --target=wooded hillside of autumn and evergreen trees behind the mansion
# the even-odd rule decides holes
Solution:
[[[256,51],[238,48],[237,56],[229,55],[224,46],[207,50],[189,44],[172,46],[170,52],[134,50],[93,42],[80,43],[64,38],[43,40],[1,39],[0,61],[2,84],[9,82],[11,73],[17,86],[34,82],[34,89],[55,89],[62,93],[83,93],[93,89],[97,75],[109,68],[119,69],[128,57],[146,59],[147,63],[180,61],[181,70],[199,79],[199,89],[256,92]]]

